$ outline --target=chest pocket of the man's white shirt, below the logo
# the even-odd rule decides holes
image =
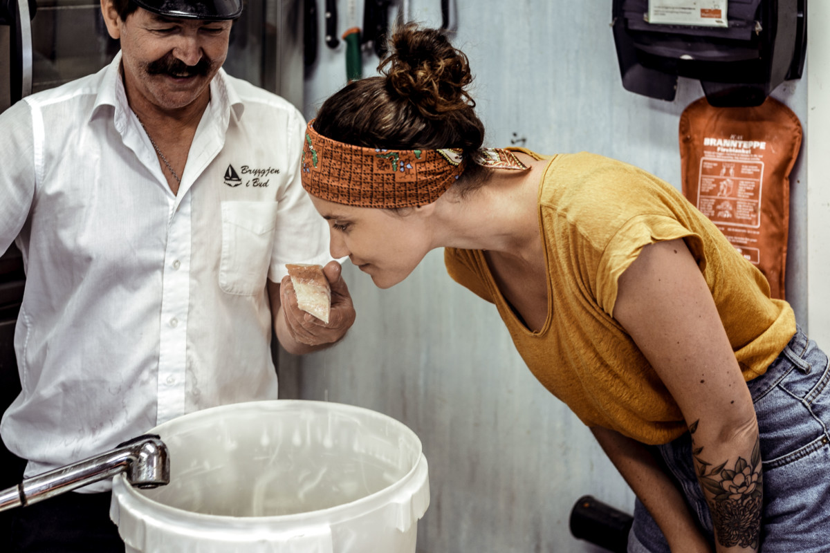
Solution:
[[[222,201],[219,288],[251,296],[265,289],[276,227],[276,201]]]

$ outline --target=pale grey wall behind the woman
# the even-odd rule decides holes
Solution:
[[[355,3],[362,13],[363,2]],[[610,0],[457,3],[454,43],[476,75],[472,94],[487,145],[588,150],[681,186],[677,124],[682,110],[703,95],[701,86],[681,79],[673,102],[624,90]],[[440,24],[437,0],[409,4],[414,20]],[[348,5],[339,2],[341,32],[349,26]],[[375,65],[374,56],[365,56],[364,75]],[[306,117],[344,82],[342,46],[330,50],[320,37],[319,59],[305,81]],[[805,129],[807,84],[790,81],[774,91]],[[791,182],[787,293],[806,324],[808,292],[814,291],[808,276],[816,270],[808,271],[808,233],[823,229],[808,229],[804,216],[803,158]],[[570,535],[574,502],[593,494],[630,512],[632,492],[588,429],[530,375],[496,308],[452,283],[442,251],[385,291],[348,263],[344,275],[358,310],[354,328],[326,352],[301,359],[283,352],[282,395],[362,405],[403,421],[421,437],[432,504],[418,527],[418,551],[595,551]]]

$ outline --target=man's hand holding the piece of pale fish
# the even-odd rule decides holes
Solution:
[[[340,264],[330,261],[323,268],[323,274],[331,287],[328,324],[297,307],[297,296],[290,277],[283,278],[281,284],[269,283],[276,337],[287,352],[302,354],[329,347],[344,337],[354,324],[354,305]]]

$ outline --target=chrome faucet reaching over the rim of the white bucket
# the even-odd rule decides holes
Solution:
[[[0,511],[26,507],[119,473],[125,473],[127,481],[137,488],[168,484],[167,446],[159,436],[145,434],[95,457],[27,478],[17,486],[0,491]]]

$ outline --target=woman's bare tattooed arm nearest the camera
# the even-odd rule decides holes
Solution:
[[[648,245],[619,279],[614,318],[679,405],[691,431],[716,551],[757,551],[758,424],[706,281],[683,240]]]

